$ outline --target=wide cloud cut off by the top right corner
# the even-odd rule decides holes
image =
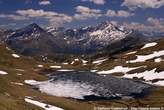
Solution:
[[[159,8],[164,6],[164,0],[124,0],[122,6],[127,6],[130,9]]]

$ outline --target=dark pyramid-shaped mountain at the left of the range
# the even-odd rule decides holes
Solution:
[[[61,49],[59,44],[63,42],[59,37],[54,38],[52,34],[46,32],[37,24],[31,24],[16,30],[7,38],[6,43],[12,49],[24,55],[46,56],[59,52]]]

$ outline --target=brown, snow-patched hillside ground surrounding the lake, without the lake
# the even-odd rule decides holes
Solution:
[[[112,57],[104,56],[98,59],[72,57],[62,63],[39,62],[31,57],[17,55],[4,44],[0,44],[0,99],[3,100],[0,102],[0,108],[39,110],[38,106],[25,102],[25,98],[29,99],[29,97],[65,110],[92,110],[94,106],[163,106],[163,44],[164,40],[158,40]],[[45,81],[47,80],[45,74],[55,70],[66,72],[85,70],[101,75],[111,74],[116,77],[143,81],[156,87],[146,97],[139,99],[79,101],[47,95],[25,83],[25,80]]]

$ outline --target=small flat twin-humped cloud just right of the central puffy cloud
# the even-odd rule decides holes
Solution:
[[[119,10],[119,11],[108,10],[106,13],[106,16],[109,17],[130,17],[133,15],[134,15],[133,13],[124,10]]]

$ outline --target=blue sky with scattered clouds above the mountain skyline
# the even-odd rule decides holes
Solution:
[[[0,28],[96,25],[164,32],[164,0],[0,0]]]

